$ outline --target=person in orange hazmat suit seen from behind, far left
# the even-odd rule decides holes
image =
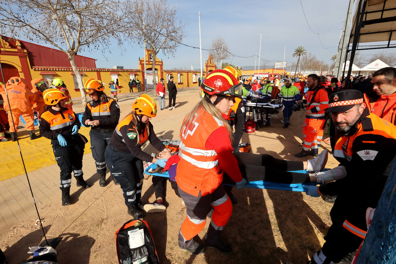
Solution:
[[[6,87],[10,105],[8,104],[8,100],[4,101],[4,109],[8,112],[8,123],[10,124],[12,141],[17,141],[19,116],[22,116],[26,122],[30,140],[38,139],[41,136],[34,133],[34,115],[31,109],[34,102],[38,101],[38,96],[30,91],[26,80],[21,77],[11,77],[6,83]],[[0,86],[0,93],[3,98],[7,98],[4,86]]]

